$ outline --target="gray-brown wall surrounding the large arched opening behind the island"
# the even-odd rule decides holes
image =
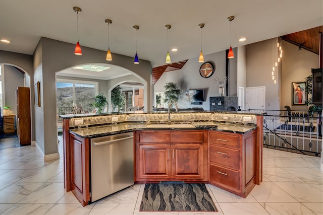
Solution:
[[[34,81],[40,81],[41,107],[35,107],[37,117],[36,141],[44,154],[55,154],[57,150],[56,129],[56,79],[55,74],[66,68],[87,64],[106,63],[105,51],[82,47],[83,55],[74,54],[75,44],[65,43],[48,38],[41,38],[34,55]],[[120,65],[138,74],[147,83],[150,83],[150,61],[140,60],[140,64],[133,63],[133,57],[114,54],[114,60],[110,64]],[[147,102],[151,104],[150,92],[147,92]],[[149,105],[150,110],[152,105]],[[39,116],[39,119],[38,119]],[[38,136],[43,134],[43,137]],[[42,147],[43,146],[43,147]]]

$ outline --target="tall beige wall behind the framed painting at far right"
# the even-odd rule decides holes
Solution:
[[[304,82],[311,75],[311,68],[318,68],[318,55],[283,41],[282,104],[292,109],[307,110],[307,106],[292,106],[292,82]]]

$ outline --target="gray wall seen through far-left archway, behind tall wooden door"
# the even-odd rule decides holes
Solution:
[[[3,84],[5,87],[5,101],[4,106],[11,107],[10,113],[17,114],[16,110],[16,89],[17,87],[24,87],[24,77],[19,70],[11,65],[4,65]],[[1,107],[3,108],[3,107]]]

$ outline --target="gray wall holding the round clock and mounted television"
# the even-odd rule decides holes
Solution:
[[[230,59],[230,95],[237,95],[237,48],[234,48],[235,58]],[[220,96],[219,86],[214,84],[216,78],[226,76],[226,51],[220,51],[212,54],[204,55],[204,62],[210,61],[215,66],[214,74],[205,79],[200,76],[199,68],[202,63],[198,62],[198,58],[189,59],[180,70],[168,71],[163,73],[158,81],[154,84],[154,92],[164,92],[164,85],[168,82],[177,83],[182,93],[179,97],[179,108],[202,107],[209,110],[209,97]],[[205,101],[203,105],[191,105],[186,100],[185,91],[204,89]]]

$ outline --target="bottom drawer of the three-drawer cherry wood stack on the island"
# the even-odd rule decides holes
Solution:
[[[239,190],[239,172],[227,168],[210,165],[210,181]]]

